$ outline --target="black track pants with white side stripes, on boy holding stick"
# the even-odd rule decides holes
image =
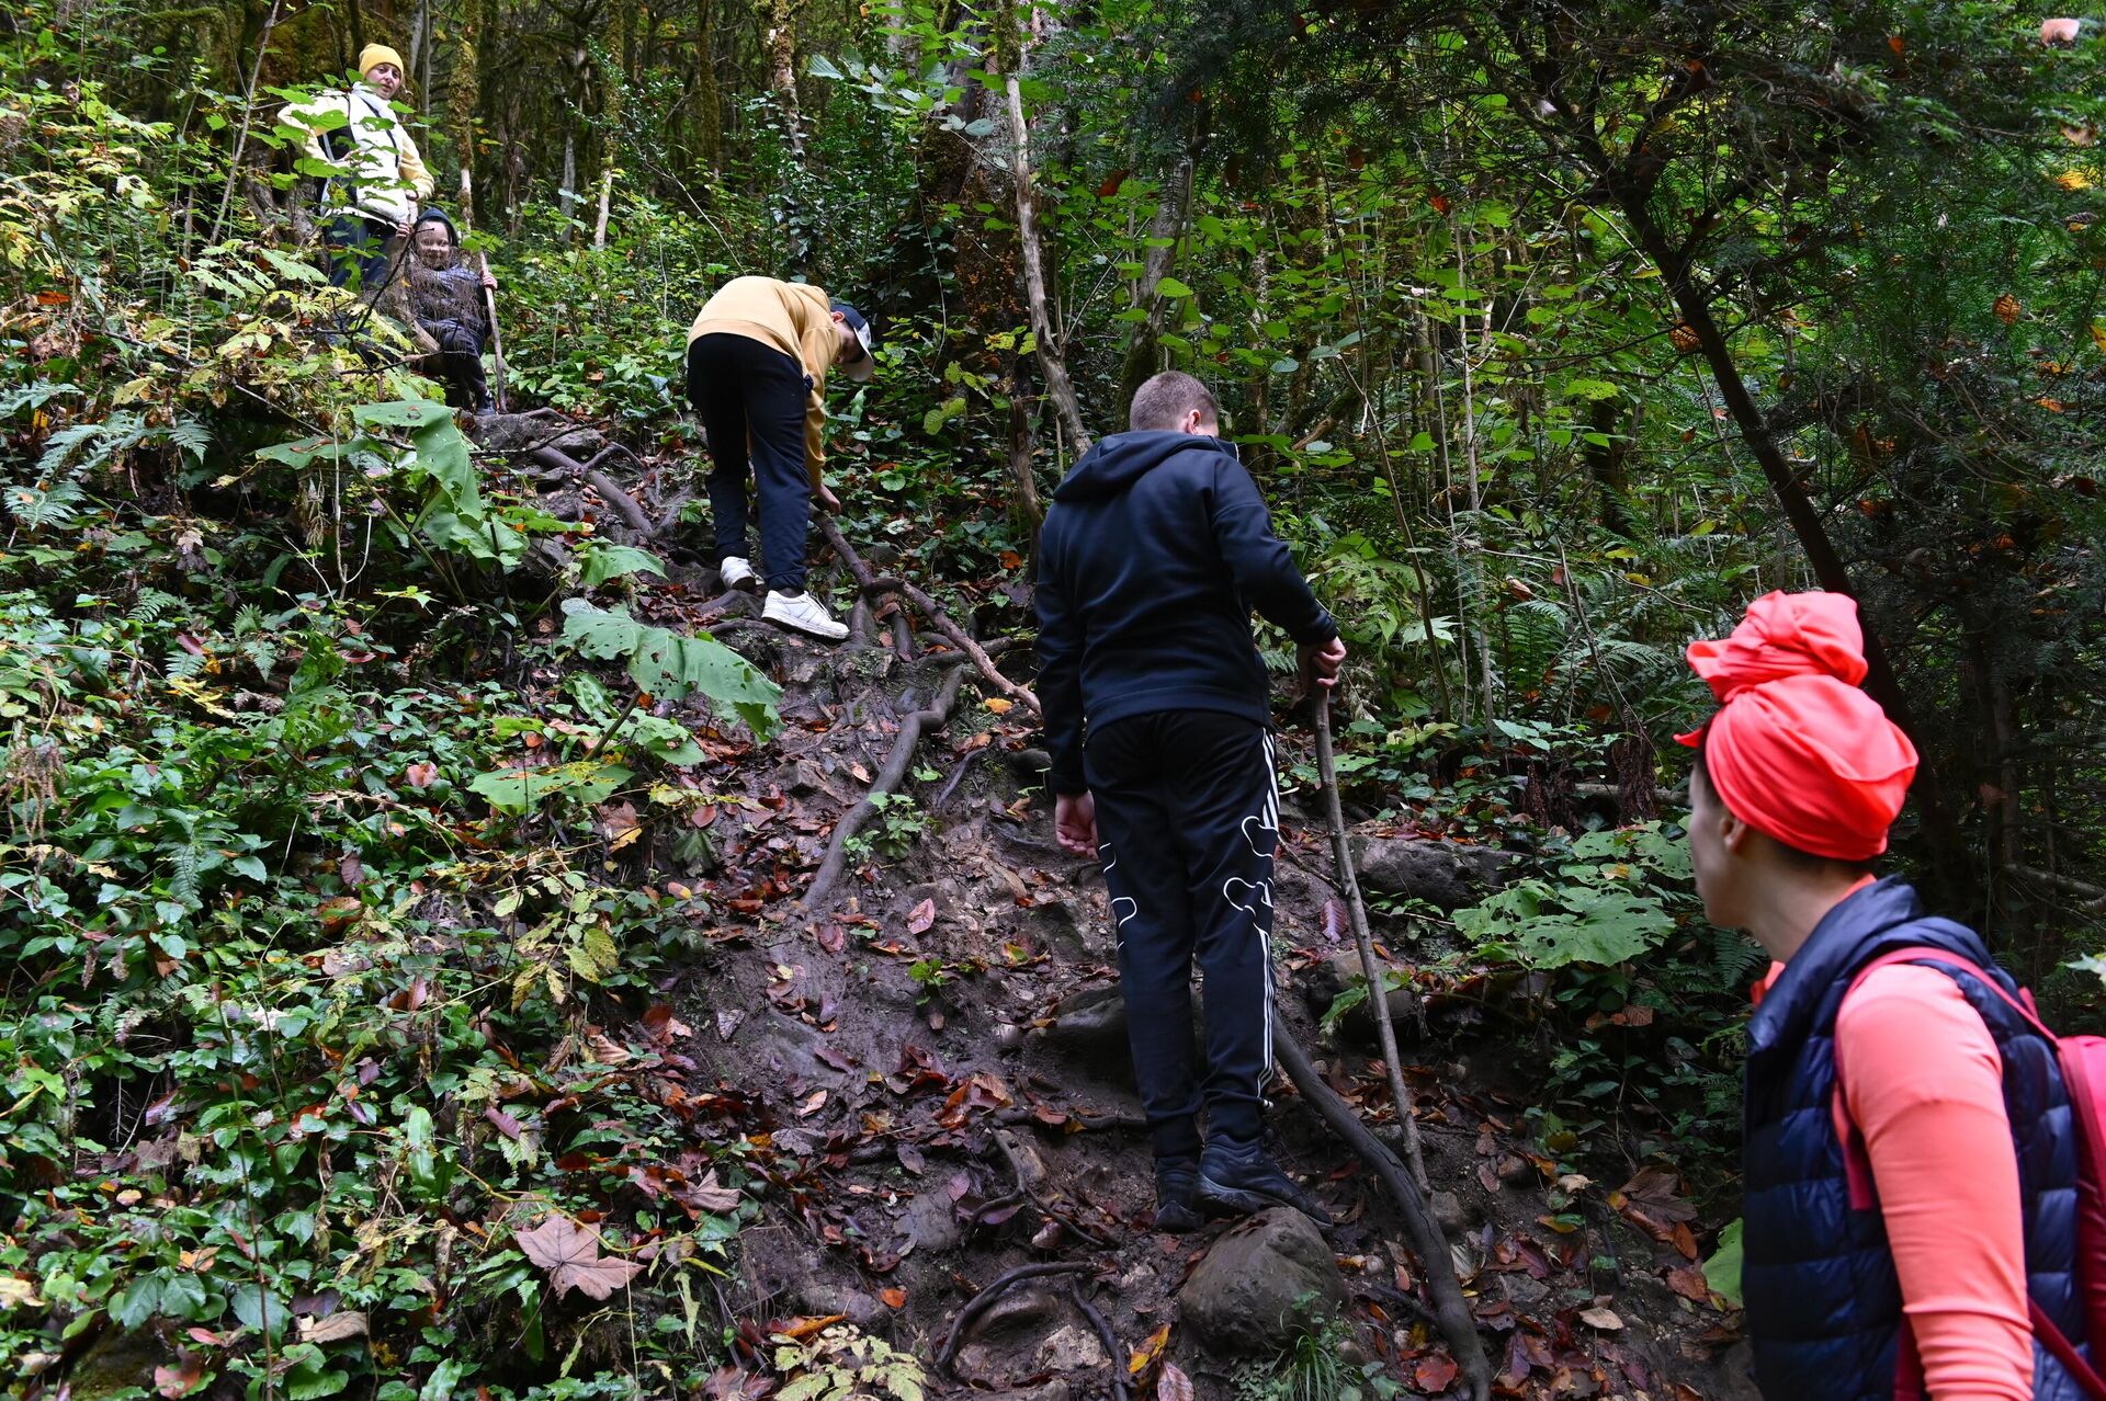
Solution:
[[[1091,728],[1082,770],[1156,1157],[1198,1153],[1203,1102],[1209,1134],[1253,1140],[1272,1073],[1272,734],[1213,711],[1133,715]],[[1205,1062],[1192,1033],[1194,959]]]

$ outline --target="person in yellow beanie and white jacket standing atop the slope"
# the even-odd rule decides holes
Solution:
[[[307,172],[326,175],[322,217],[335,286],[377,290],[388,278],[390,244],[409,238],[417,206],[432,196],[432,172],[392,105],[402,72],[400,53],[366,44],[358,82],[284,109],[286,126],[305,133],[303,156],[322,166]]]

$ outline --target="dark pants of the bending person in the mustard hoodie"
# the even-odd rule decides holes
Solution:
[[[804,398],[811,385],[794,356],[752,337],[714,332],[687,347],[687,398],[710,431],[710,515],[716,557],[750,560],[746,473],[760,496],[760,562],[777,593],[804,591]]]

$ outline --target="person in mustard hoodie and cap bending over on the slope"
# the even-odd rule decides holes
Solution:
[[[746,528],[746,478],[760,509],[760,616],[823,642],[849,635],[804,589],[811,499],[828,511],[826,372],[855,381],[876,370],[870,322],[821,288],[775,278],[733,278],[687,332],[687,398],[710,433],[710,515],[716,570],[727,589],[758,589]]]

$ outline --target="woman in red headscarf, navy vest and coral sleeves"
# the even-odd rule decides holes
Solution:
[[[1697,892],[1775,959],[1744,1140],[1763,1395],[2081,1397],[2028,1323],[2083,1336],[2068,1100],[1980,936],[1872,875],[1916,751],[1857,690],[1855,604],[1769,593],[1689,665],[1718,698],[1681,736]]]

